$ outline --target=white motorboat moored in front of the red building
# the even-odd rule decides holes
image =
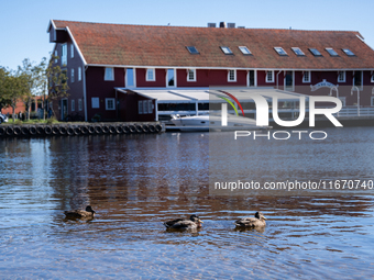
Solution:
[[[201,114],[180,116],[172,115],[173,126],[166,126],[170,130],[179,131],[248,131],[248,130],[267,130],[271,126],[257,126],[254,119],[228,114],[228,125],[222,126],[220,114]]]

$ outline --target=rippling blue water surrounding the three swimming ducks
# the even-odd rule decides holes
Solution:
[[[337,145],[308,142],[304,159],[297,146],[286,153],[275,142],[253,144],[253,154],[266,150],[264,146],[278,150],[271,168],[285,178],[297,169],[304,178],[374,179],[374,128],[330,134],[340,135]],[[371,191],[212,195],[211,135],[1,141],[1,279],[373,277]],[[328,161],[312,163],[310,154],[322,154]],[[307,167],[299,168],[300,163]],[[238,167],[226,164],[231,171]],[[87,204],[97,211],[92,221],[64,219],[64,210]],[[234,231],[235,219],[257,210],[268,219],[263,231]],[[199,232],[165,231],[163,221],[191,213],[204,221]]]

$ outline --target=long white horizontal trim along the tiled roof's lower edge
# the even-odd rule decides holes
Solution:
[[[154,65],[154,66],[144,66],[144,65],[110,65],[110,64],[87,64],[87,66],[90,67],[118,67],[118,68],[155,68],[155,69],[186,69],[188,66],[160,66],[160,65]],[[195,69],[211,69],[211,70],[227,70],[228,67],[194,67]],[[288,70],[288,71],[372,71],[374,68],[343,68],[343,69],[323,69],[323,68],[249,68],[249,67],[230,67],[230,69],[235,69],[235,70]]]

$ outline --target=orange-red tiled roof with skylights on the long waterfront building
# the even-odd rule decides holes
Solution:
[[[374,69],[374,51],[359,32],[53,23],[57,29],[69,29],[89,65]],[[195,46],[199,54],[190,54],[186,46]],[[220,46],[230,47],[233,55],[224,55]],[[243,55],[239,46],[246,46],[253,55]],[[274,47],[283,47],[288,55],[279,56]],[[297,56],[292,47],[299,47],[305,56]],[[314,56],[308,51],[311,47],[322,56]],[[332,47],[339,56],[331,57],[326,47]],[[355,56],[348,56],[342,48]]]

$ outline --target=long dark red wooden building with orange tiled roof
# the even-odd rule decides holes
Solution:
[[[343,105],[374,107],[374,51],[359,32],[178,27],[52,20],[55,60],[68,75],[59,119],[153,121],[160,110],[136,90],[273,87],[339,91]],[[327,87],[327,88],[323,88]],[[139,101],[145,100],[142,107]],[[157,108],[156,108],[157,107]],[[146,110],[148,109],[148,110]]]

